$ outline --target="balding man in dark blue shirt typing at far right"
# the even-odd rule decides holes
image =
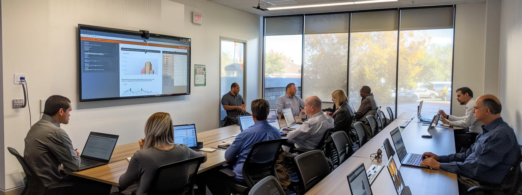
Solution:
[[[425,152],[420,164],[458,174],[460,194],[467,194],[470,187],[479,183],[500,184],[522,158],[513,128],[500,116],[500,100],[493,95],[483,95],[477,98],[473,108],[476,120],[484,125],[471,148],[464,153],[440,157]]]

